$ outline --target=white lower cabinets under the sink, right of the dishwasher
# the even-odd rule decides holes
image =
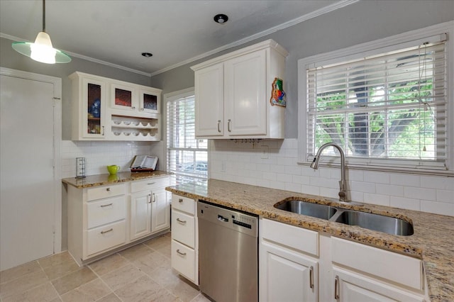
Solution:
[[[260,301],[429,301],[421,259],[260,219]]]

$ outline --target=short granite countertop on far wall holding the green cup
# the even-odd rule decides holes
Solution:
[[[65,184],[70,184],[78,189],[89,188],[92,186],[104,186],[106,184],[116,184],[118,182],[134,181],[140,179],[148,179],[153,177],[163,177],[171,175],[171,173],[164,171],[153,172],[118,172],[116,175],[98,174],[90,175],[85,178],[69,177],[62,179]]]

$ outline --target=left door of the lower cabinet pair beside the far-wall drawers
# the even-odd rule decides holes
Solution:
[[[151,233],[151,191],[131,195],[131,240]]]

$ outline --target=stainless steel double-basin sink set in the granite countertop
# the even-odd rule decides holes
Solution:
[[[358,225],[368,230],[376,230],[391,235],[413,235],[413,225],[408,221],[362,211],[336,208],[320,203],[309,201],[289,200],[275,204],[275,208],[301,215],[326,219],[346,225]]]

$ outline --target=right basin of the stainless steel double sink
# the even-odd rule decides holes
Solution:
[[[358,225],[361,228],[392,235],[409,236],[414,233],[413,225],[405,220],[360,211],[344,210],[338,216],[333,217],[333,221],[346,225]]]

